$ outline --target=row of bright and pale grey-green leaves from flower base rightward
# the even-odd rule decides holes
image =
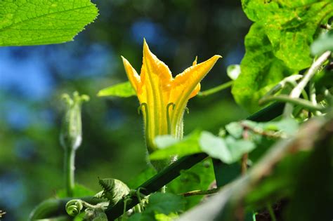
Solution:
[[[229,123],[226,126],[229,135],[224,138],[198,130],[178,142],[170,136],[161,136],[156,140],[160,149],[150,154],[150,159],[167,159],[174,155],[185,156],[205,152],[224,163],[235,163],[243,154],[252,152],[262,143],[266,143],[266,137],[276,139],[293,135],[298,128],[299,125],[294,119],[267,123],[241,121]],[[245,130],[248,138],[244,138]]]

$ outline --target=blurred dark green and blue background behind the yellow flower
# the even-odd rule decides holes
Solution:
[[[4,220],[26,220],[39,202],[63,188],[59,143],[63,93],[89,95],[82,110],[83,142],[76,181],[98,192],[98,179],[127,182],[144,168],[143,122],[137,98],[97,98],[126,81],[120,55],[141,69],[143,37],[174,76],[212,55],[223,56],[202,91],[229,81],[226,67],[240,62],[251,22],[240,1],[94,0],[100,15],[75,40],[48,46],[0,48],[0,209]],[[218,133],[247,116],[230,90],[192,98],[185,135],[195,128]],[[15,212],[16,211],[16,212]],[[20,211],[18,213],[18,211]]]

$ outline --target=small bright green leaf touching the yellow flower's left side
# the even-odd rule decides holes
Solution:
[[[131,96],[136,95],[136,91],[134,91],[131,83],[129,81],[123,83],[117,83],[110,87],[104,88],[100,90],[97,94],[99,97],[104,96],[117,96],[121,98],[129,98]]]

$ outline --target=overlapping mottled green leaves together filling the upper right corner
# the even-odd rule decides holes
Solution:
[[[258,100],[276,83],[311,65],[311,43],[320,24],[333,15],[333,5],[329,0],[244,0],[242,6],[254,25],[245,38],[246,53],[233,95],[254,112]]]

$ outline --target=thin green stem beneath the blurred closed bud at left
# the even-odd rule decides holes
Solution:
[[[74,193],[74,160],[75,160],[75,150],[74,149],[65,149],[65,187],[68,197],[72,197]]]

